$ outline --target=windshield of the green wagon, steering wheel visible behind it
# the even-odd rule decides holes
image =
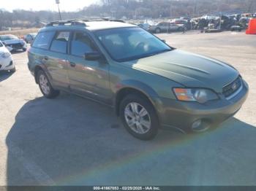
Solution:
[[[115,28],[95,31],[99,41],[116,61],[132,61],[172,50],[142,28]]]

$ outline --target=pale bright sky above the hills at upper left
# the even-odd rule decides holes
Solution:
[[[55,0],[0,0],[0,9],[33,9],[58,11]],[[97,0],[60,0],[61,11],[76,11],[89,4],[97,3]]]

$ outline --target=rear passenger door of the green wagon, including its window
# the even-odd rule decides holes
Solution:
[[[53,41],[50,44],[50,51],[45,55],[48,72],[52,77],[56,87],[67,89],[69,78],[67,74],[67,47],[69,41],[69,31],[56,31]]]

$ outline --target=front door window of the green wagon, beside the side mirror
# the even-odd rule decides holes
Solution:
[[[94,43],[91,42],[89,36],[82,32],[74,34],[71,42],[72,55],[83,56],[86,52],[94,52],[95,50]]]

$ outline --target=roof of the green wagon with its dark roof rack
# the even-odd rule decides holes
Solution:
[[[68,25],[66,25],[64,22],[61,23],[61,21],[59,22],[61,23],[59,25],[58,25],[58,22],[56,23],[49,23],[47,26],[45,26],[45,28],[42,28],[41,31],[54,31],[58,29],[64,30],[67,28],[68,29],[86,28],[89,31],[99,31],[99,30],[105,30],[110,28],[138,27],[132,24],[115,22],[115,21],[89,21],[89,22],[83,21],[80,23],[75,23],[74,25],[70,24],[70,22]]]

